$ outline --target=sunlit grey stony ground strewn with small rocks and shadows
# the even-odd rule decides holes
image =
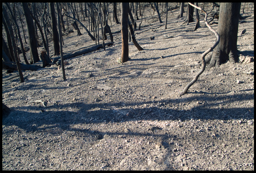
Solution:
[[[168,15],[164,30],[148,7],[135,31],[144,50],[129,43],[124,64],[115,33],[106,51],[66,60],[67,81],[55,65],[23,71],[20,84],[17,72],[3,70],[11,113],[2,122],[2,170],[254,170],[254,62],[246,63],[254,59],[254,13],[239,24],[240,62],[206,69],[183,96],[215,36],[204,16],[193,31],[194,23]],[[65,54],[95,44],[81,31],[64,38]]]

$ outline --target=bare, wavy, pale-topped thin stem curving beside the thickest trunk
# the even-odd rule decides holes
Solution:
[[[214,45],[213,45],[212,47],[208,48],[208,49],[202,54],[202,69],[195,75],[194,79],[193,79],[191,82],[189,82],[189,83],[187,84],[187,86],[184,88],[184,90],[182,91],[182,93],[180,93],[180,95],[186,94],[187,91],[188,91],[188,89],[189,89],[189,87],[191,87],[191,86],[197,81],[198,77],[203,73],[203,71],[205,71],[205,66],[206,66],[206,63],[205,63],[205,56],[206,56],[210,51],[212,51],[212,50],[218,45],[218,43],[219,43],[219,41],[220,41],[220,36],[219,36],[219,34],[218,34],[214,29],[212,29],[212,27],[211,27],[211,26],[208,24],[208,22],[207,22],[207,12],[206,12],[205,10],[201,9],[200,7],[197,7],[197,6],[195,6],[195,5],[191,4],[191,3],[189,3],[189,5],[191,5],[191,6],[195,7],[195,8],[197,8],[197,9],[199,9],[199,10],[201,10],[201,11],[203,11],[203,12],[205,13],[205,18],[204,18],[205,24],[206,24],[206,26],[210,29],[210,31],[212,31],[212,32],[215,34],[215,36],[216,36],[216,41],[215,41],[215,43],[214,43]]]

